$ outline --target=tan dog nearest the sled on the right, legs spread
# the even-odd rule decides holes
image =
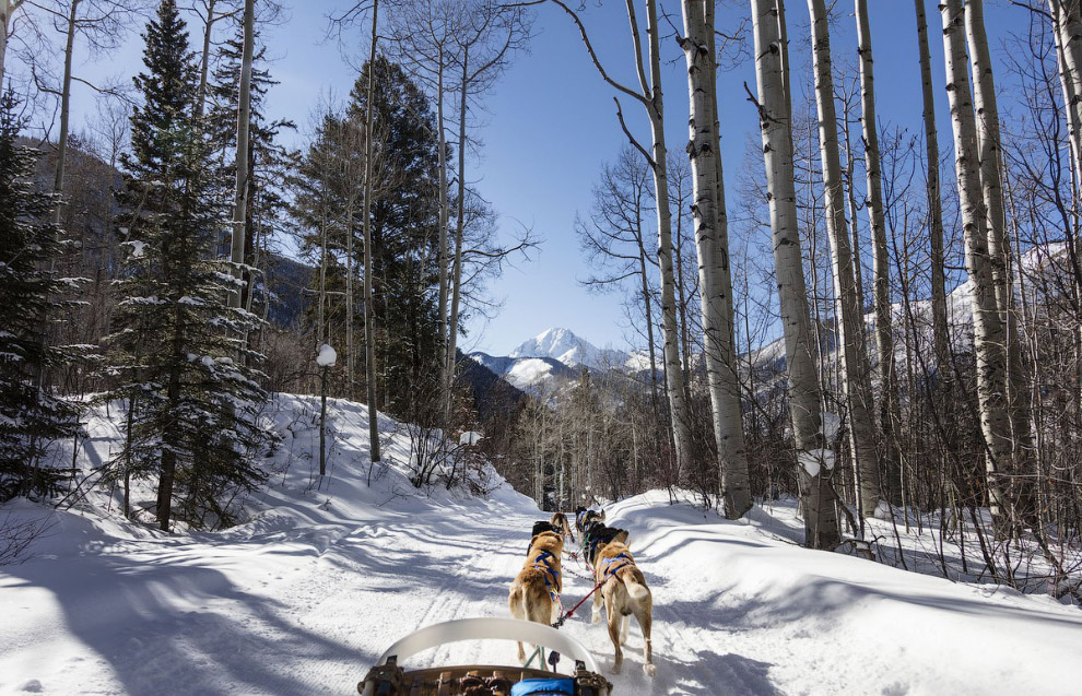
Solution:
[[[612,671],[620,672],[624,653],[620,646],[627,642],[627,628],[631,616],[635,615],[646,645],[643,649],[643,671],[654,676],[654,648],[650,644],[650,627],[654,623],[654,597],[646,586],[643,571],[635,565],[627,544],[613,541],[598,545],[597,563],[593,565],[601,590],[593,595],[593,623],[601,621],[601,602],[609,620],[609,639],[616,651]]]

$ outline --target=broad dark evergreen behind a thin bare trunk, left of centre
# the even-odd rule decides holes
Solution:
[[[303,249],[318,256],[321,229],[327,226],[330,249],[339,258],[352,250],[356,269],[363,268],[364,259],[362,191],[369,69],[368,63],[363,66],[345,114],[325,117],[295,182],[294,215],[304,229]],[[438,144],[431,105],[416,83],[383,56],[376,59],[375,70],[376,154],[369,216],[379,405],[402,417],[423,420],[411,394],[414,386],[438,369]],[[353,292],[360,297],[360,283]],[[360,315],[361,303],[355,300],[353,307]],[[341,337],[329,339],[336,345],[349,343]]]

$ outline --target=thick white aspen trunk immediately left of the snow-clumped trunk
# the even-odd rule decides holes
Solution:
[[[684,39],[687,92],[691,101],[687,153],[692,165],[692,213],[698,250],[699,298],[706,375],[721,469],[725,512],[739,519],[751,508],[748,458],[740,413],[740,382],[733,345],[732,279],[729,271],[727,221],[719,180],[720,154],[715,113],[713,0],[684,0]]]

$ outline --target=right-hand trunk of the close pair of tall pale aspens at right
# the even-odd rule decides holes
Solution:
[[[1011,247],[1007,234],[1007,213],[1000,175],[1002,139],[991,56],[985,32],[984,0],[967,0],[964,15],[966,40],[973,60],[973,101],[977,116],[980,190],[988,211],[988,256],[991,262],[992,282],[996,284],[996,304],[999,306],[1007,340],[1007,393],[1014,448],[1010,471],[1011,496],[1012,504],[1019,511],[1030,516],[1035,511],[1035,500],[1031,491],[1034,445],[1033,429],[1030,425],[1030,389],[1025,368],[1022,365],[1018,315],[1013,309]]]

